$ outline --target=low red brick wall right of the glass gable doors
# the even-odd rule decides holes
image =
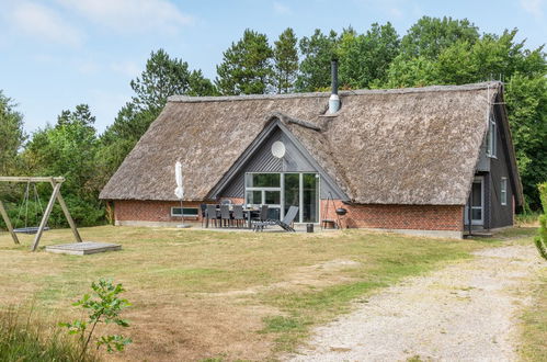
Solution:
[[[347,210],[341,217],[342,227],[463,230],[464,206],[457,205],[346,205],[334,200],[335,207],[321,200],[322,218],[337,219],[338,207]]]

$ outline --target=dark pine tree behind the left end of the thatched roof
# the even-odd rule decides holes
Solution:
[[[215,87],[201,70],[189,70],[186,61],[171,58],[163,49],[150,53],[146,69],[132,80],[136,95],[133,102],[140,109],[159,112],[174,94],[213,95]]]

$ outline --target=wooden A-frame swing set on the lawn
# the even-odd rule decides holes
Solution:
[[[59,202],[60,208],[62,210],[62,213],[65,214],[65,217],[67,218],[68,224],[70,225],[70,229],[72,230],[72,234],[75,236],[75,239],[77,242],[82,242],[82,239],[80,237],[80,233],[78,233],[78,229],[76,228],[75,220],[72,219],[72,216],[70,216],[70,213],[68,211],[67,204],[65,203],[65,200],[62,199],[60,194],[60,186],[62,182],[65,182],[65,178],[54,178],[54,177],[0,177],[0,182],[12,182],[12,183],[23,183],[25,182],[27,184],[26,186],[26,192],[24,196],[24,202],[29,203],[29,197],[30,197],[30,184],[31,183],[37,183],[37,182],[46,182],[50,183],[53,188],[52,196],[49,197],[49,202],[47,203],[47,206],[45,211],[43,212],[42,220],[39,222],[38,227],[27,227],[25,225],[24,228],[19,228],[14,229],[10,218],[8,216],[8,212],[5,211],[2,201],[0,200],[0,214],[2,215],[3,222],[5,223],[5,226],[8,227],[8,231],[11,234],[11,237],[13,239],[13,242],[20,244],[19,238],[16,233],[24,233],[24,234],[36,234],[34,237],[34,242],[32,245],[31,250],[35,251],[38,248],[39,239],[42,238],[42,235],[44,234],[45,230],[47,230],[47,222],[49,219],[49,216],[52,215],[52,211],[55,205],[55,201],[57,200]],[[35,196],[36,201],[37,200],[37,192],[35,191]],[[27,205],[26,205],[27,207]],[[26,218],[26,215],[25,215]],[[26,223],[26,222],[25,222]]]

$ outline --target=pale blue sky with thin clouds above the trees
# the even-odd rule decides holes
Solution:
[[[80,103],[103,132],[151,50],[214,79],[247,27],[273,43],[288,26],[303,37],[389,21],[402,36],[423,15],[467,18],[488,33],[517,27],[529,48],[547,42],[547,0],[0,0],[0,90],[30,133]]]

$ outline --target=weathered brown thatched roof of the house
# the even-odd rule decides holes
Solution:
[[[180,160],[185,199],[204,200],[276,116],[350,201],[463,205],[501,91],[499,82],[345,91],[335,116],[324,116],[329,93],[171,97],[101,199],[175,200]]]

